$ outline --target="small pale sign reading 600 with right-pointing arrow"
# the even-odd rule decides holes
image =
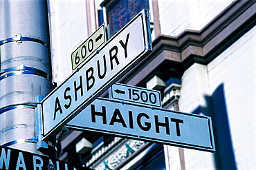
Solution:
[[[75,70],[95,50],[107,41],[105,25],[102,24],[84,43],[71,53],[72,70]]]

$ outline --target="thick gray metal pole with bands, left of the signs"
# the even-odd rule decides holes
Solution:
[[[0,145],[38,153],[35,96],[53,89],[46,0],[0,1]]]

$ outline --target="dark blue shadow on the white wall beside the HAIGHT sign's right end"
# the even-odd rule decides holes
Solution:
[[[207,103],[206,107],[199,106],[192,113],[202,113],[212,118],[216,147],[216,152],[213,154],[216,169],[237,169],[234,149],[232,147],[224,85],[219,85],[214,90],[212,96],[205,96],[205,101]]]

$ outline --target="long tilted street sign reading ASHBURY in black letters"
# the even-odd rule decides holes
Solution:
[[[117,32],[80,70],[42,100],[43,140],[100,96],[152,51],[149,18],[140,12]]]

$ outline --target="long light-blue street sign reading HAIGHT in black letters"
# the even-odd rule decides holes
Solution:
[[[208,116],[97,98],[66,127],[214,152]]]

